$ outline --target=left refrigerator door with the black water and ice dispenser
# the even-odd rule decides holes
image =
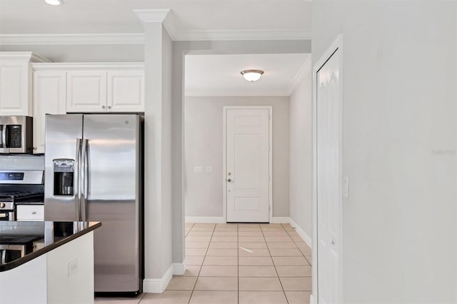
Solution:
[[[44,219],[45,221],[79,221],[76,205],[79,191],[77,187],[77,168],[74,180],[76,188],[73,194],[59,195],[59,171],[57,166],[63,160],[73,160],[76,165],[79,156],[76,156],[76,142],[83,134],[82,114],[46,115],[46,153],[44,155]],[[56,165],[59,164],[59,165]],[[65,164],[64,164],[65,166]],[[61,167],[64,167],[61,166]],[[68,174],[66,174],[68,176]]]

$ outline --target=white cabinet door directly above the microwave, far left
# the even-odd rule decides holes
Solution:
[[[30,116],[29,61],[0,61],[0,113]]]

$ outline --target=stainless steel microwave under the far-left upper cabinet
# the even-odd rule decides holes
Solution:
[[[0,116],[0,153],[32,153],[33,118]]]

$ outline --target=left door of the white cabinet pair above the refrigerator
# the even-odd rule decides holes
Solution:
[[[66,111],[106,111],[106,71],[67,71]]]

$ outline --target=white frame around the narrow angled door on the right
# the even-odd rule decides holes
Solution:
[[[318,215],[317,215],[317,73],[324,64],[331,58],[333,53],[340,52],[340,96],[338,101],[340,103],[340,111],[338,113],[339,124],[339,163],[336,170],[339,171],[339,188],[341,196],[338,203],[340,205],[340,235],[338,240],[338,285],[340,286],[340,298],[343,300],[343,78],[341,77],[343,71],[343,35],[339,34],[336,39],[328,46],[326,51],[313,65],[313,273],[312,273],[312,294],[311,303],[318,304]],[[343,302],[341,302],[343,303]]]

